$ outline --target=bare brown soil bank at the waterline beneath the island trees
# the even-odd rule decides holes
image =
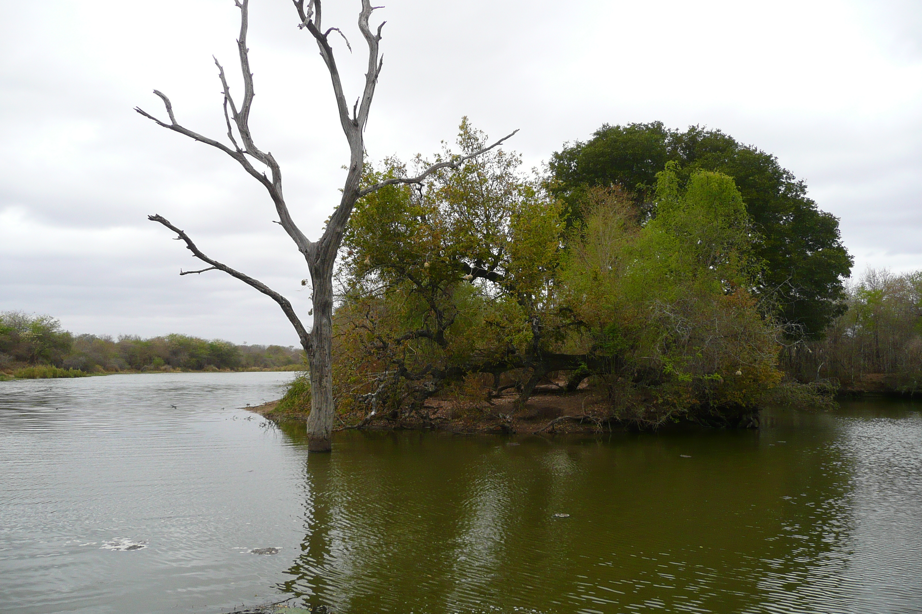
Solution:
[[[525,406],[517,408],[518,393],[507,390],[491,402],[471,403],[457,399],[430,399],[423,409],[428,416],[398,417],[381,414],[362,428],[367,430],[433,429],[457,434],[595,433],[608,430],[599,417],[604,400],[597,391],[564,392],[556,386],[535,388]],[[277,411],[278,401],[243,409],[269,420],[307,420],[304,411]],[[341,416],[336,430],[355,428],[362,416]]]

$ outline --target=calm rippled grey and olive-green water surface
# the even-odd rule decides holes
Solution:
[[[0,383],[0,611],[922,611],[918,404],[308,458],[290,375]]]

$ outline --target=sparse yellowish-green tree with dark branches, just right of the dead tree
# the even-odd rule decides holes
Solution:
[[[486,145],[464,120],[457,159]],[[472,365],[533,353],[534,319],[552,319],[551,282],[561,251],[561,210],[519,156],[500,149],[431,176],[425,189],[392,186],[356,205],[344,238],[337,308],[339,407],[419,407]],[[396,159],[366,182],[407,175]]]

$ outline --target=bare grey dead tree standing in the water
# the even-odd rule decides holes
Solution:
[[[149,215],[148,219],[158,222],[163,226],[170,228],[178,235],[178,238],[185,242],[185,247],[190,249],[195,258],[207,262],[209,267],[201,272],[218,270],[226,272],[233,277],[241,280],[245,284],[253,286],[263,294],[269,296],[278,303],[282,311],[288,317],[291,325],[298,332],[301,340],[301,346],[308,357],[308,363],[311,375],[311,414],[307,421],[307,432],[309,440],[309,449],[313,452],[325,452],[330,450],[330,434],[333,429],[333,418],[336,411],[333,401],[333,381],[332,381],[332,340],[333,340],[333,268],[336,263],[337,252],[342,242],[343,232],[349,222],[349,215],[352,214],[352,208],[355,203],[372,191],[379,190],[385,185],[396,183],[420,183],[425,180],[432,172],[440,168],[458,168],[465,160],[473,156],[491,150],[493,147],[502,144],[503,141],[511,137],[511,133],[496,143],[484,147],[470,156],[458,157],[454,160],[443,162],[424,170],[419,176],[412,178],[391,179],[376,185],[361,188],[362,168],[364,164],[365,144],[363,133],[365,125],[368,122],[369,110],[372,107],[372,98],[374,96],[374,87],[378,82],[378,76],[381,75],[383,59],[379,53],[379,43],[381,41],[381,30],[384,28],[384,22],[376,30],[369,26],[369,18],[376,6],[372,6],[370,0],[361,0],[361,11],[359,13],[359,29],[368,44],[368,72],[365,74],[365,86],[362,90],[361,97],[358,98],[349,110],[349,102],[343,91],[342,82],[339,77],[337,63],[334,58],[333,48],[330,46],[329,36],[334,31],[343,36],[342,31],[338,28],[323,29],[321,26],[321,0],[309,0],[305,6],[304,0],[292,0],[298,12],[298,28],[307,29],[313,36],[317,46],[320,48],[320,55],[324,59],[326,68],[329,71],[330,79],[333,82],[333,93],[337,100],[337,110],[339,123],[342,126],[343,133],[349,143],[349,168],[346,175],[346,182],[343,186],[342,197],[330,216],[329,222],[322,237],[316,241],[308,239],[301,229],[294,223],[291,218],[288,205],[285,203],[282,192],[281,168],[272,154],[259,149],[250,133],[249,120],[250,110],[253,106],[254,87],[253,74],[250,72],[250,61],[246,47],[246,33],[248,24],[249,0],[234,0],[234,4],[241,11],[240,38],[237,40],[237,48],[240,54],[241,72],[243,77],[243,98],[238,107],[234,98],[231,96],[231,88],[228,87],[227,79],[224,75],[224,68],[219,64],[217,58],[215,64],[218,66],[218,75],[221,87],[224,91],[224,119],[227,122],[228,139],[231,145],[225,145],[220,141],[208,138],[202,134],[195,133],[185,128],[179,122],[172,110],[170,98],[167,98],[160,91],[154,90],[154,94],[163,100],[166,107],[169,122],[161,122],[148,112],[137,109],[136,111],[150,120],[157,122],[164,128],[184,134],[195,141],[201,141],[207,145],[215,147],[228,156],[236,160],[246,172],[259,181],[266,188],[269,197],[275,204],[278,213],[278,224],[285,232],[288,233],[291,240],[294,241],[298,250],[307,261],[307,267],[313,283],[313,330],[307,332],[301,319],[291,307],[290,301],[283,295],[269,288],[266,284],[246,275],[242,272],[232,269],[230,266],[219,261],[209,258],[205,253],[195,246],[195,243],[177,226],[173,226],[169,220],[161,215]],[[349,41],[346,41],[349,45]],[[351,48],[350,48],[351,51]],[[234,133],[236,131],[236,137]],[[518,132],[518,131],[516,131]],[[239,139],[239,140],[238,140]],[[254,166],[256,163],[262,170]]]

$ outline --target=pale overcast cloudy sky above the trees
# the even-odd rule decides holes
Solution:
[[[326,0],[358,95],[359,0]],[[856,271],[922,269],[922,5],[917,0],[390,0],[372,158],[429,153],[467,114],[528,166],[605,122],[702,124],[774,153],[841,218]],[[211,55],[236,67],[232,0],[6,3],[0,23],[0,310],[76,332],[171,331],[290,344],[278,307],[195,268],[159,213],[306,316],[303,261],[264,191],[216,150],[137,115],[224,133]],[[257,145],[316,237],[348,150],[289,0],[251,0]],[[237,84],[233,81],[231,87]],[[240,88],[237,87],[237,91]]]

